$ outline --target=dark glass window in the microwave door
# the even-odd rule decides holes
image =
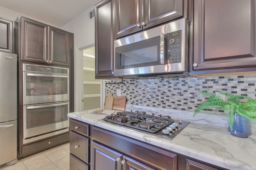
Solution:
[[[116,47],[116,70],[165,64],[164,50],[160,45],[161,37],[153,37],[136,43]]]

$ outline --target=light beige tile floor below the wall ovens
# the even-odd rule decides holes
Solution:
[[[23,158],[0,170],[69,170],[69,143]]]

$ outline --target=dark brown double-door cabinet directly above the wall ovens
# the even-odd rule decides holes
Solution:
[[[69,32],[24,17],[19,24],[21,60],[69,66]]]

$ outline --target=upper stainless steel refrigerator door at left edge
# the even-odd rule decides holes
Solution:
[[[0,69],[1,123],[17,119],[17,55],[0,52]]]

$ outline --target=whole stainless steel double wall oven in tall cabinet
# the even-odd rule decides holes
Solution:
[[[23,64],[23,143],[68,132],[69,69]]]

